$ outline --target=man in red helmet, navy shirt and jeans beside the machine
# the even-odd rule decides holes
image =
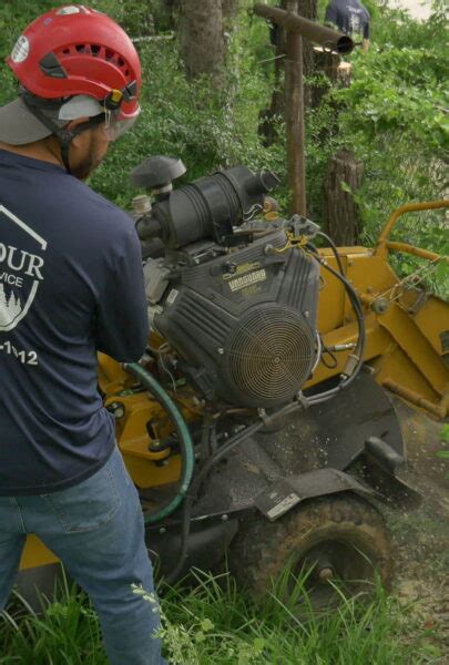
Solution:
[[[146,345],[141,252],[82,182],[139,114],[139,57],[72,4],[7,62],[21,86],[0,108],[0,610],[34,533],[90,594],[111,664],[161,665],[139,497],[96,389],[96,351],[135,361]]]

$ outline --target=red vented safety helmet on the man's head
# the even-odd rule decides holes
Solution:
[[[120,103],[120,119],[139,114],[141,63],[127,34],[83,4],[53,9],[18,39],[7,63],[42,99],[85,94]],[[119,92],[122,93],[122,96]]]

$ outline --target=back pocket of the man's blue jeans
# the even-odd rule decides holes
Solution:
[[[111,461],[78,485],[61,492],[43,494],[42,499],[67,533],[100,529],[112,520],[121,504]]]

